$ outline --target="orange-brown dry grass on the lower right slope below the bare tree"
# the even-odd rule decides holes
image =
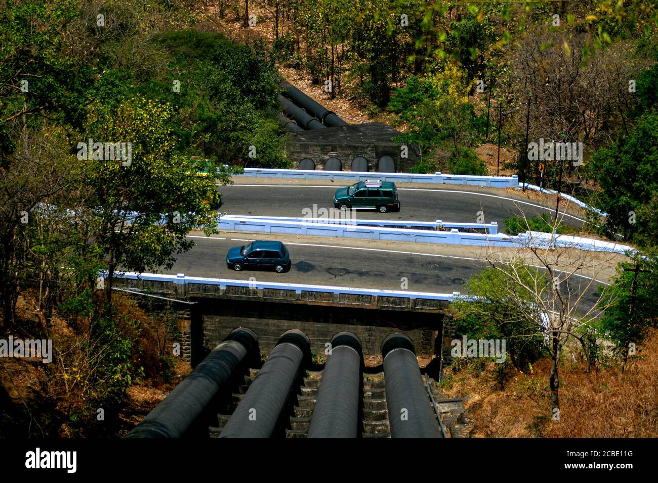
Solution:
[[[619,365],[586,374],[582,362],[562,363],[559,421],[552,420],[548,400],[549,359],[538,361],[532,373],[508,373],[503,389],[491,363],[482,373],[451,373],[445,390],[470,397],[466,407],[480,438],[655,438],[657,368],[657,329],[649,331],[623,375]]]

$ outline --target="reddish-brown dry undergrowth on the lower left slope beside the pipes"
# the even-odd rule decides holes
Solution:
[[[71,323],[55,313],[46,327],[34,293],[26,290],[18,298],[13,335],[52,338],[53,361],[47,365],[32,359],[0,361],[0,399],[4,394],[7,403],[0,407],[0,436],[67,438],[98,436],[95,431],[101,429],[104,436],[114,430],[127,432],[126,428],[132,428],[134,421],[141,420],[190,372],[189,363],[176,359],[172,371],[163,374],[162,357],[168,356],[172,328],[162,314],[149,316],[126,296],[115,294],[113,300],[114,323],[122,338],[133,344],[130,364],[143,368],[143,378],[128,388],[126,400],[118,408],[119,417],[108,419],[107,428],[89,423],[96,422],[92,402],[103,400],[106,385],[112,385],[99,373],[99,357],[109,346],[91,338],[86,317]]]

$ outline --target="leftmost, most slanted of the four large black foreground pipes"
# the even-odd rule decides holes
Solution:
[[[258,339],[236,329],[151,411],[126,438],[180,438],[236,374],[243,361],[259,355]]]

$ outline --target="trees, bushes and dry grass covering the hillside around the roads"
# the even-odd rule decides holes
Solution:
[[[472,407],[478,434],[593,435],[575,415],[596,435],[655,434],[657,60],[651,0],[3,2],[0,333],[58,342],[56,364],[0,360],[0,398],[27,410],[28,435],[117,434],[138,381],[182,373],[174,328],[117,297],[114,273],[170,268],[191,229],[216,233],[216,180],[291,166],[274,118],[284,72],[398,127],[396,141],[420,145],[415,172],[488,173],[498,163],[477,153],[500,144],[505,173],[607,213],[586,229],[638,248],[609,285],[586,253],[529,249],[528,264],[488,252],[491,269],[465,287],[478,298],[454,304],[447,335],[509,341],[506,363],[467,363],[489,389]],[[544,141],[582,151],[529,157]],[[570,233],[562,221],[508,224]],[[583,280],[598,290],[586,310]],[[472,392],[463,363],[443,383],[459,394]],[[33,405],[21,374],[43,381]],[[89,424],[99,407],[112,424]],[[521,407],[536,419],[517,423]],[[556,409],[559,428],[545,419]],[[609,411],[620,415],[606,430],[595,418]]]

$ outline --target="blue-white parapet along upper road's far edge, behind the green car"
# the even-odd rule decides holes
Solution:
[[[459,174],[414,174],[414,173],[376,173],[358,171],[316,171],[316,170],[273,170],[270,168],[245,168],[244,173],[236,176],[273,177],[292,179],[325,179],[334,181],[366,181],[380,179],[394,183],[432,183],[438,185],[490,186],[495,188],[516,188],[519,186],[517,175],[507,176],[470,176]]]

